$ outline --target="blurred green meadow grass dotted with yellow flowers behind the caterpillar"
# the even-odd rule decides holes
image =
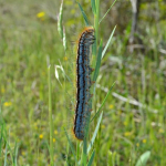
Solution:
[[[75,35],[84,27],[79,6],[65,1],[64,7],[62,24],[65,27],[68,50],[64,50],[58,32],[56,14],[60,2],[1,2],[3,17],[0,20],[0,165],[49,165],[51,155],[54,165],[76,165],[75,160],[79,163],[81,157],[84,157],[83,160],[87,157],[91,159],[85,162],[90,165],[92,162],[92,165],[100,166],[134,166],[142,154],[151,152],[146,165],[165,166],[166,68],[163,64],[165,55],[158,51],[159,42],[166,41],[165,22],[159,22],[159,35],[155,23],[148,25],[143,22],[146,27],[145,35],[141,35],[146,45],[144,52],[127,51],[127,29],[123,35],[116,33],[113,37],[112,44],[101,61],[91,117],[101,107],[114,82],[115,85],[101,110],[102,116],[97,116],[90,124],[86,151],[97,126],[98,132],[89,155],[84,155],[89,151],[82,153],[83,144],[80,146],[80,142],[73,139],[70,133],[74,114],[71,103],[74,103],[74,86],[64,79],[60,70],[62,86],[54,75],[54,64],[62,64],[74,83],[75,54],[70,41],[75,40]],[[97,25],[96,22],[102,17],[97,18],[95,12],[100,9],[92,11],[90,7],[90,2],[89,6],[82,6],[89,22]],[[75,11],[71,12],[71,9]],[[45,12],[43,21],[37,18],[40,11]],[[80,15],[75,14],[76,12]],[[93,12],[96,14],[96,21],[93,21]],[[97,32],[98,44],[101,37],[106,37],[102,39],[104,46],[113,30],[101,29],[107,23],[107,19],[105,17],[102,20]],[[74,27],[71,27],[72,24]],[[96,54],[95,51],[93,53]],[[94,66],[96,58],[93,59]],[[49,64],[52,86],[50,93]],[[52,96],[53,124],[50,124],[51,115],[49,117],[49,95]],[[135,100],[138,104],[133,102]],[[97,124],[98,120],[101,126]],[[50,146],[52,129],[53,143]],[[52,148],[53,155],[50,154]]]

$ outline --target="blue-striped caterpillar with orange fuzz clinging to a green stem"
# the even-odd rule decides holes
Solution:
[[[90,115],[90,87],[92,85],[90,66],[90,46],[94,43],[94,29],[85,28],[81,33],[76,58],[76,104],[73,133],[80,141],[84,139],[85,125]]]

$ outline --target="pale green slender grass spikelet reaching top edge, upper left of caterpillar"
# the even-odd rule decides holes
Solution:
[[[63,18],[63,0],[60,7],[60,13],[58,17],[58,31],[61,35],[61,39],[63,39],[63,25],[62,25],[62,18]]]

